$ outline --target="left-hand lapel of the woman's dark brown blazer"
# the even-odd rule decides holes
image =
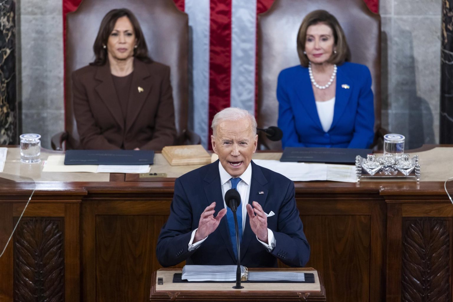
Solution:
[[[104,66],[101,66],[96,71],[96,80],[101,81],[99,85],[95,87],[97,93],[101,97],[110,113],[115,118],[118,125],[124,128],[124,118],[121,112],[120,102],[116,95],[115,85],[113,84],[113,78],[111,76],[110,64],[108,60]]]

